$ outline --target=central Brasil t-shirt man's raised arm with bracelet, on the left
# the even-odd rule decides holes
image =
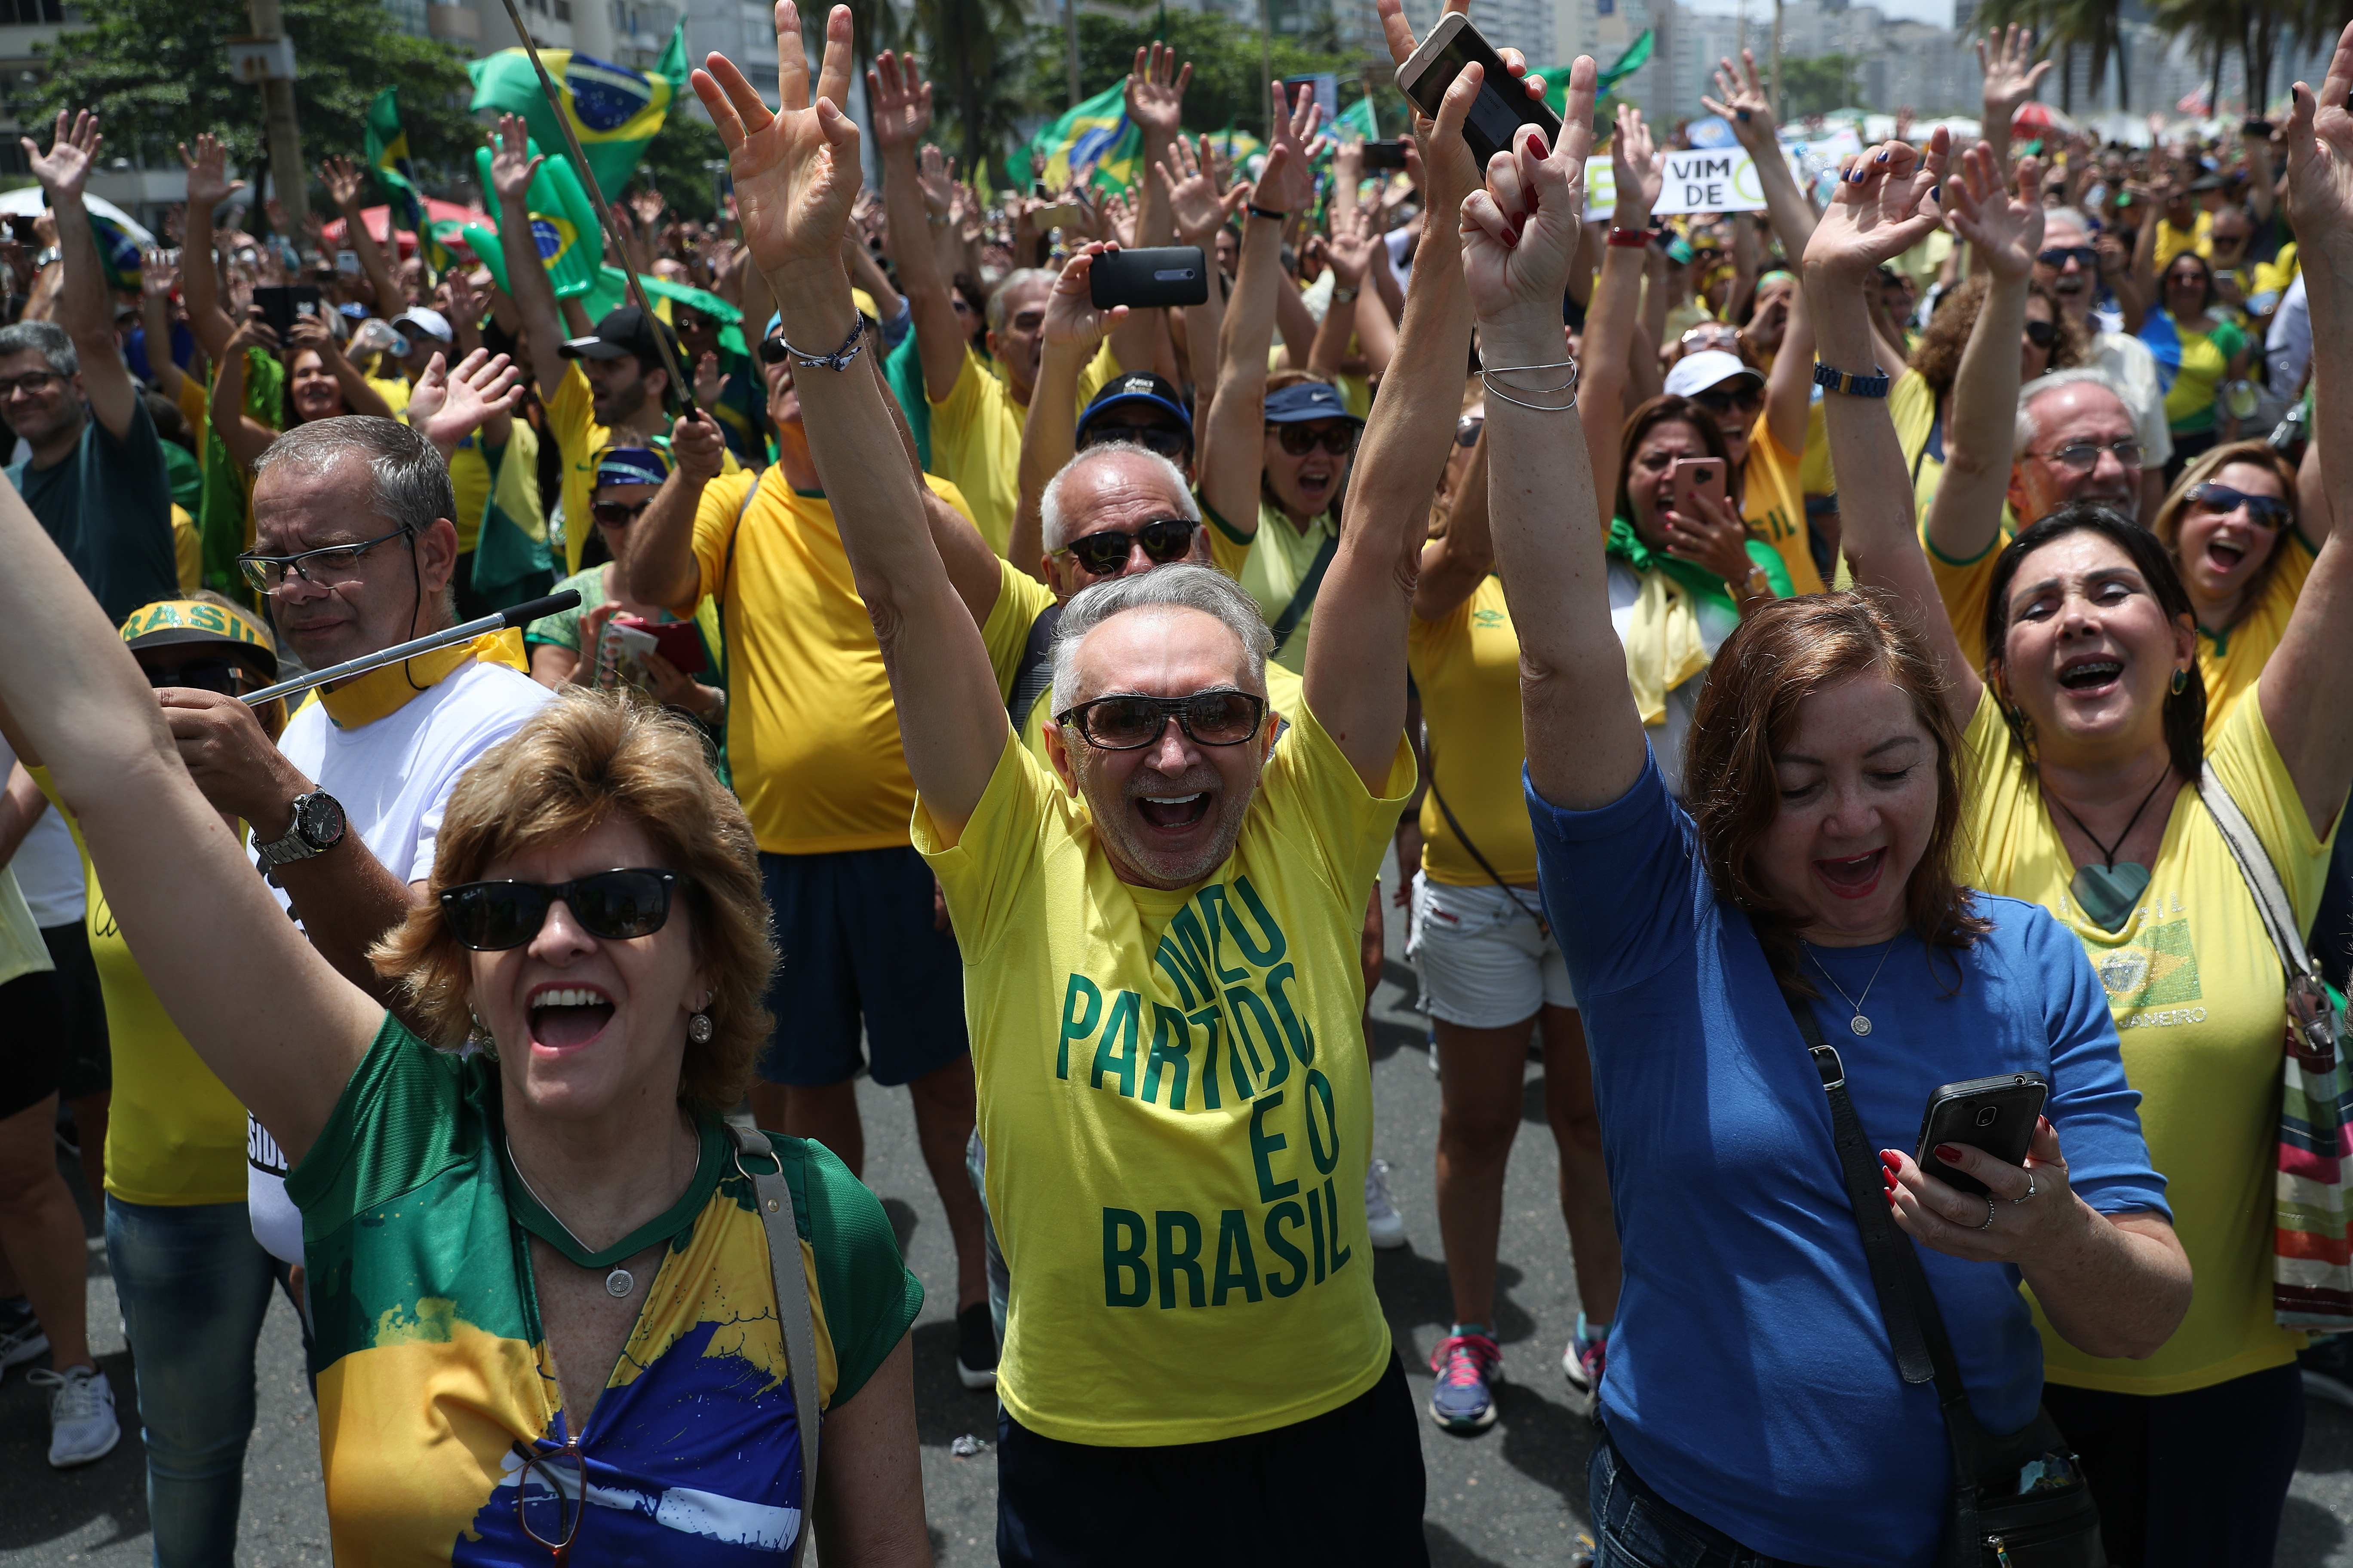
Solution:
[[[800,14],[781,0],[781,113],[769,115],[744,73],[718,54],[708,71],[694,73],[694,92],[727,146],[744,237],[795,343],[838,343],[852,317],[840,256],[859,190],[859,129],[842,113],[849,47],[849,7],[835,5],[812,99]],[[932,820],[953,839],[979,806],[1007,738],[981,628],[932,543],[880,378],[805,367],[795,388],[859,597],[882,644],[908,771]]]

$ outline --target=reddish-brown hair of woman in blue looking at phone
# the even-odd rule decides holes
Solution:
[[[1937,741],[1937,823],[1904,889],[1913,936],[1962,950],[1993,929],[1953,875],[1960,837],[1960,726],[1944,705],[1944,675],[1908,611],[1878,590],[1819,592],[1741,614],[1708,668],[1692,715],[1682,785],[1715,891],[1744,910],[1781,990],[1817,997],[1798,969],[1795,910],[1755,879],[1755,846],[1781,809],[1774,755],[1798,729],[1798,705],[1859,675],[1892,682]]]

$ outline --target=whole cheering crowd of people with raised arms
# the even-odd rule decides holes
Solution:
[[[1534,1051],[1595,1563],[1977,1561],[2021,1497],[2073,1519],[2021,1563],[2268,1563],[2306,1392],[2353,1406],[2337,1107],[2280,1088],[2353,959],[2353,26],[2235,143],[2026,146],[2033,54],[1984,45],[1979,141],[1819,181],[1722,61],[1762,212],[1654,219],[1692,127],[1595,127],[1586,59],[1485,169],[1475,99],[1546,85],[1464,71],[1391,174],[1280,85],[1235,165],[1153,45],[1132,190],[991,205],[918,61],[859,127],[847,7],[812,63],[786,2],[781,108],[694,73],[722,221],[631,193],[664,287],[598,320],[520,118],[440,270],[348,160],[341,240],[247,233],[200,134],[134,296],[59,115],[0,327],[0,1373],[47,1356],[49,1462],[129,1418],[64,1119],[158,1563],[233,1559],[278,1293],[341,1561],[929,1561],[866,1077],[1000,1561],[1426,1563],[1369,1251],[1428,1204],[1426,1410],[1487,1429]],[[1094,303],[1160,244],[1200,303]],[[2017,1164],[1915,1147],[1995,1079]]]

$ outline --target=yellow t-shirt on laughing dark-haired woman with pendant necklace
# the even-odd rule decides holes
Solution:
[[[2311,931],[2329,839],[2313,832],[2261,703],[2231,708],[2207,764],[2278,867],[2297,929]],[[2111,1394],[2181,1394],[2287,1366],[2304,1333],[2271,1316],[2285,978],[2198,790],[2174,795],[2141,905],[2122,931],[2104,931],[2068,891],[2075,863],[1986,691],[1965,736],[1960,846],[1962,882],[2040,903],[2092,959],[2198,1279],[2188,1319],[2144,1361],[2087,1356],[2045,1321],[2045,1375]]]

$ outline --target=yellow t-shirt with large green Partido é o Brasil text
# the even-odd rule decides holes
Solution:
[[[1120,882],[1085,799],[1012,733],[958,837],[918,809],[965,954],[1012,1269],[998,1396],[1024,1427],[1202,1443],[1388,1368],[1358,936],[1412,785],[1402,738],[1374,795],[1304,712],[1233,856],[1176,891]]]

